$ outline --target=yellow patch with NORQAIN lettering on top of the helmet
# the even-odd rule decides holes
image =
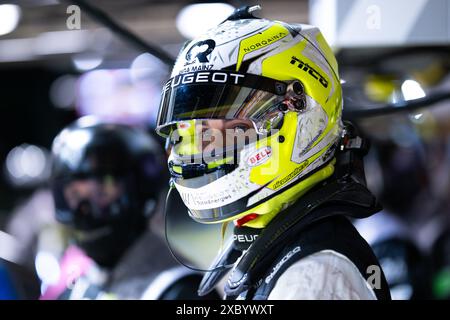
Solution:
[[[239,71],[246,54],[262,49],[275,43],[289,34],[289,30],[279,23],[274,23],[270,28],[242,40],[239,44],[239,53],[236,63],[236,71]]]

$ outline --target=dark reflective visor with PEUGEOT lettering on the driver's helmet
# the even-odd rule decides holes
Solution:
[[[247,119],[258,125],[276,112],[286,89],[284,82],[238,72],[177,75],[164,86],[156,130],[167,137],[174,123],[191,119]]]

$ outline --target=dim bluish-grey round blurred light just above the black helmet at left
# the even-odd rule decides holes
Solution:
[[[71,75],[61,76],[50,87],[50,100],[55,107],[70,109],[74,107],[76,99],[77,77]]]

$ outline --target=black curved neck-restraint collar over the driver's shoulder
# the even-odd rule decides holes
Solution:
[[[242,252],[236,246],[230,245],[217,259],[218,263],[224,265],[224,261],[240,256],[228,280],[227,289],[242,290],[242,287],[248,286],[251,282],[248,275],[263,272],[264,270],[259,270],[259,266],[265,265],[264,261],[272,259],[279,253],[280,243],[284,243],[312,223],[334,215],[361,219],[380,210],[381,206],[375,196],[358,179],[352,176],[330,178],[280,212],[266,228],[260,230],[248,250]],[[214,269],[218,270],[205,274],[199,295],[210,292],[229,271],[213,266],[211,270]]]

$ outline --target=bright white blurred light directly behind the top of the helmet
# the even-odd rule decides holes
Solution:
[[[193,39],[228,18],[234,7],[227,3],[191,4],[178,13],[176,25],[186,38]]]

